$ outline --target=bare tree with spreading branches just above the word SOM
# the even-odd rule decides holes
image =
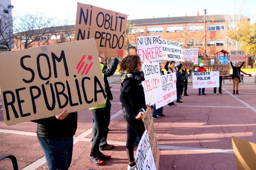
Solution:
[[[26,14],[16,19],[14,44],[17,49],[38,47],[48,44],[53,19],[43,14]]]

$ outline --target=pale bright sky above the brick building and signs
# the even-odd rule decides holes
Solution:
[[[113,10],[128,15],[128,20],[143,18],[161,18],[175,16],[192,16],[199,11],[203,15],[203,10],[207,10],[207,15],[229,13],[230,0],[79,0],[78,2],[93,6]],[[232,5],[239,6],[233,0]],[[71,19],[75,24],[76,0],[11,0],[14,6],[13,16],[43,13],[51,18],[61,20]],[[255,20],[256,1],[244,0],[243,15]]]

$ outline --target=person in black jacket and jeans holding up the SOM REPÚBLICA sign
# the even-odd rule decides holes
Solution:
[[[77,128],[77,112],[33,120],[37,123],[37,137],[45,154],[49,170],[67,170],[73,150],[73,136]]]

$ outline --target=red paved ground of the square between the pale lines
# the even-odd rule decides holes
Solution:
[[[114,100],[111,114],[121,109],[119,101],[120,84],[110,84]],[[223,85],[232,92],[232,85]],[[189,146],[202,148],[232,149],[231,137],[256,143],[256,86],[239,86],[239,95],[235,95],[249,105],[244,105],[232,95],[213,95],[213,88],[206,88],[206,96],[198,96],[197,89],[188,87],[184,103],[169,108],[164,107],[166,117],[154,120],[159,145]],[[205,106],[205,107],[200,107]],[[248,107],[247,107],[248,106]],[[75,136],[91,128],[91,114],[88,110],[78,112],[78,128]],[[0,130],[36,132],[36,124],[25,122],[6,126],[0,111]],[[111,120],[108,140],[126,141],[126,122],[123,113]],[[90,135],[86,136],[90,138]],[[124,145],[115,145],[113,150],[103,151],[111,154],[112,159],[104,166],[94,166],[88,162],[90,143],[79,141],[73,147],[73,159],[70,170],[120,170],[127,169],[127,155]],[[136,149],[136,148],[135,148]],[[26,167],[43,157],[36,136],[17,135],[0,132],[0,155],[13,154],[17,157],[19,169]],[[234,155],[230,153],[206,153],[186,150],[160,150],[159,170],[234,170]],[[9,160],[0,161],[0,170],[11,170]],[[48,169],[47,164],[37,168]]]

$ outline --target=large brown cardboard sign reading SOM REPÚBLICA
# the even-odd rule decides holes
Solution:
[[[7,125],[102,105],[104,81],[95,39],[0,54]]]

